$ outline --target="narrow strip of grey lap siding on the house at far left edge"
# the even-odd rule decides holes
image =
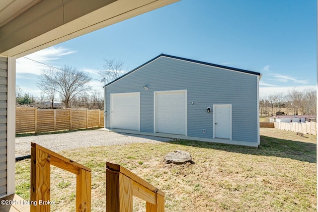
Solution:
[[[6,141],[6,108],[7,108],[7,58],[0,57],[0,197],[7,192],[7,141]]]

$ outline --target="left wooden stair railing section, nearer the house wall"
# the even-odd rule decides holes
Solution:
[[[50,212],[50,165],[77,175],[76,211],[90,212],[91,169],[36,143],[31,143],[31,212]]]

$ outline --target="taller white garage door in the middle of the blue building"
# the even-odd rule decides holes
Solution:
[[[155,132],[186,135],[186,91],[155,93]]]

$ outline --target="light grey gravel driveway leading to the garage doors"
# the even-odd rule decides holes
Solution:
[[[156,143],[171,141],[169,138],[115,133],[101,130],[78,131],[63,134],[15,138],[15,157],[29,155],[31,142],[59,152],[89,146],[107,146],[128,143]]]

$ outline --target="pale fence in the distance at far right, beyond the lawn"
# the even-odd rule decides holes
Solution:
[[[317,135],[316,122],[274,122],[274,126],[280,130],[293,131],[296,133]]]

